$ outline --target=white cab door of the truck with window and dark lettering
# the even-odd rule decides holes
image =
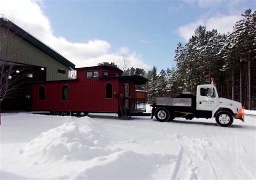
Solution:
[[[213,90],[213,95],[212,95]],[[211,87],[199,87],[198,89],[198,108],[197,110],[202,111],[213,111],[217,107],[217,95],[215,88]]]

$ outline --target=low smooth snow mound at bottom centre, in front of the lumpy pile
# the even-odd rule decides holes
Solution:
[[[91,167],[72,179],[152,179],[157,170],[170,164],[174,158],[174,155],[140,154],[122,150],[90,161]]]

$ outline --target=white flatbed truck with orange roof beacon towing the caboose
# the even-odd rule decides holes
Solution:
[[[175,98],[157,98],[151,104],[151,118],[156,117],[160,122],[170,121],[176,117],[186,119],[215,118],[219,126],[232,125],[234,116],[242,107],[234,100],[219,98],[217,89],[212,84],[198,85],[197,95],[183,92]]]

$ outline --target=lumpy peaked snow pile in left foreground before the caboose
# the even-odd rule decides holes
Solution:
[[[25,147],[18,149],[18,154],[34,163],[57,160],[90,160],[94,157],[109,155],[119,149],[108,149],[108,139],[99,132],[98,126],[69,122],[43,132]]]

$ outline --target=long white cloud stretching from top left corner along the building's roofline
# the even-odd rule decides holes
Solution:
[[[113,53],[111,44],[105,40],[93,39],[78,43],[70,42],[64,37],[57,37],[52,32],[50,20],[43,12],[41,1],[0,1],[0,14],[13,20],[15,24],[46,45],[56,49],[66,59],[75,63],[76,67],[96,66],[103,61],[119,64],[125,56],[129,58],[131,66],[150,68],[140,55],[136,55],[137,53],[130,51],[127,47],[121,47]]]

